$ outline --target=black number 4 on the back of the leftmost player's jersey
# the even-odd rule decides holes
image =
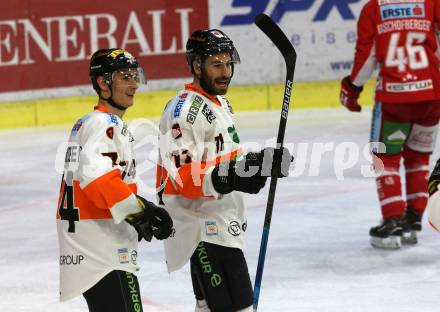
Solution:
[[[67,172],[66,179],[64,180],[63,176],[61,183],[61,200],[58,213],[61,220],[69,221],[68,232],[75,233],[75,221],[79,221],[79,209],[74,207],[72,172]]]

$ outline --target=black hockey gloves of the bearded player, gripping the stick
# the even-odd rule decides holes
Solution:
[[[232,191],[257,194],[266,184],[267,177],[287,177],[292,160],[289,150],[284,147],[251,152],[240,161],[218,164],[211,175],[212,183],[220,194]]]

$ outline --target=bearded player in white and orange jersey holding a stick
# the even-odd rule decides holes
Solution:
[[[159,204],[175,228],[165,241],[168,271],[190,261],[196,311],[252,311],[243,192],[258,193],[268,176],[287,176],[291,157],[273,148],[244,155],[223,96],[240,62],[228,36],[198,30],[186,49],[194,80],[160,121]]]

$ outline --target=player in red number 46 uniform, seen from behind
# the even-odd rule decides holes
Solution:
[[[440,116],[439,21],[439,1],[368,1],[359,16],[353,70],[341,82],[342,105],[358,112],[359,94],[378,65],[371,141],[382,143],[373,152],[384,165],[376,178],[383,221],[370,230],[378,248],[415,244],[421,230]]]

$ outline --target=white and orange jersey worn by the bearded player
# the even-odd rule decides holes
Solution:
[[[228,101],[188,84],[167,104],[159,127],[159,204],[175,229],[165,240],[168,271],[185,265],[200,241],[242,249],[243,194],[219,194],[211,180],[216,163],[243,157]]]

